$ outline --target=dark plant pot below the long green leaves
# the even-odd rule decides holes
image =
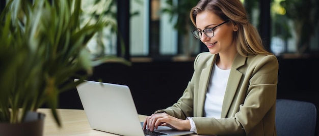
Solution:
[[[22,123],[10,124],[0,122],[0,135],[43,135],[45,115],[38,112],[28,112]]]

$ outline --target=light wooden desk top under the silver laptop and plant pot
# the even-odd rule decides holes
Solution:
[[[93,130],[84,110],[58,109],[57,111],[62,122],[61,128],[55,122],[50,109],[38,109],[38,112],[45,114],[43,135],[116,135]],[[139,115],[139,117],[141,121],[146,118],[145,115]]]

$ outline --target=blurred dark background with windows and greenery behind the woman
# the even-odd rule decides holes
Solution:
[[[87,45],[92,58],[116,55],[131,62],[105,62],[89,80],[128,85],[139,114],[173,105],[207,51],[192,36],[189,11],[194,0],[82,0],[83,23],[113,19]],[[319,106],[319,1],[241,0],[266,49],[279,61],[277,98]],[[3,10],[6,1],[0,2]],[[83,109],[76,89],[60,94],[60,108]]]

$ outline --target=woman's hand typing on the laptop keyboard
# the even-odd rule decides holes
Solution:
[[[178,119],[166,113],[152,114],[148,116],[143,123],[143,129],[147,128],[150,131],[153,131],[154,128],[157,129],[158,126],[169,126],[177,130],[191,129],[191,124],[188,119]]]

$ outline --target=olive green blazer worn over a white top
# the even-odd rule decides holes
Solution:
[[[210,73],[218,55],[200,53],[194,74],[172,107],[155,113],[192,117],[200,135],[277,135],[275,126],[278,60],[274,55],[236,54],[223,101],[221,118],[204,118]]]

